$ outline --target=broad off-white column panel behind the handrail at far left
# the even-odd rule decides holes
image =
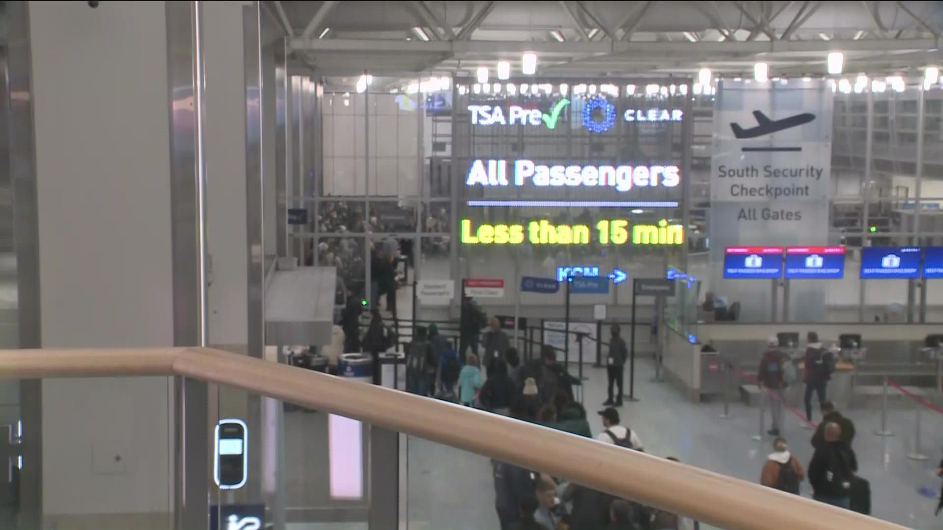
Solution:
[[[163,2],[30,2],[42,345],[174,343]],[[166,377],[42,384],[43,527],[166,528]]]

